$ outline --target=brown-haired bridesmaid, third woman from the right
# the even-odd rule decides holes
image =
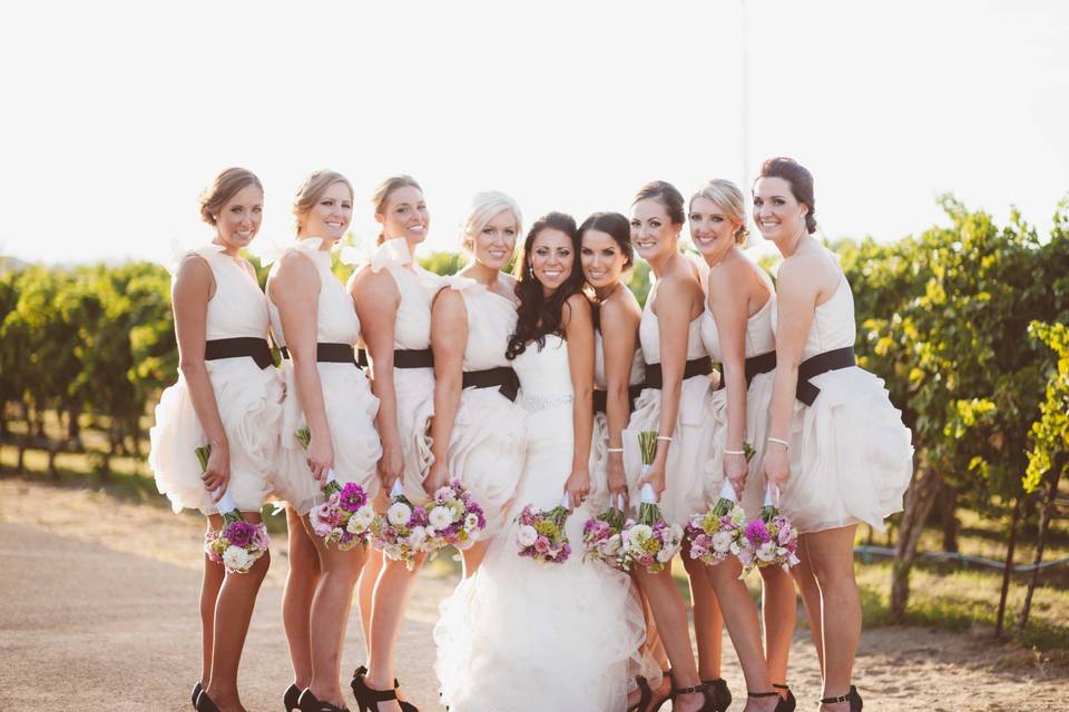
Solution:
[[[638,491],[649,484],[665,518],[680,526],[706,507],[710,498],[705,473],[696,464],[710,457],[710,443],[703,425],[708,419],[706,393],[716,383],[699,333],[705,308],[700,275],[678,249],[685,221],[683,196],[670,184],[648,182],[635,196],[631,240],[653,269],[656,283],[639,324],[646,388],[624,432],[625,468],[628,481],[634,483],[631,501],[637,502]],[[643,431],[658,433],[657,454],[649,473],[639,479],[638,434]],[[690,576],[702,679],[690,650],[686,607],[671,580],[670,567],[658,574],[639,571],[638,584],[673,664],[673,709],[723,711],[730,704],[730,693],[719,679],[719,607],[708,586],[705,565],[688,556],[684,556],[684,563]],[[683,694],[684,690],[692,692]],[[699,705],[699,700],[704,704]]]

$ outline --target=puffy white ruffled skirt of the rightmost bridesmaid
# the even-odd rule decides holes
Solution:
[[[801,533],[860,522],[882,532],[913,474],[912,434],[867,370],[842,368],[811,383],[821,393],[812,406],[795,402],[779,508]]]

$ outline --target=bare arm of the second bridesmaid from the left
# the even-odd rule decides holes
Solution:
[[[287,253],[278,260],[278,270],[267,280],[267,296],[278,308],[286,349],[293,360],[293,379],[304,418],[312,436],[306,453],[308,469],[318,482],[334,466],[334,438],[326,419],[320,367],[316,363],[318,340],[320,275],[307,257]],[[282,437],[294,437],[283,433]]]

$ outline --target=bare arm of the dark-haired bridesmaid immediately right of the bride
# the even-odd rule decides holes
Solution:
[[[626,295],[625,295],[626,296]],[[638,323],[641,312],[622,298],[601,305],[601,344],[605,354],[606,406],[609,426],[608,484],[609,492],[622,495],[627,507],[627,478],[624,475],[622,431],[630,419],[631,400],[628,386],[631,364],[638,347]],[[616,452],[611,452],[616,451]]]

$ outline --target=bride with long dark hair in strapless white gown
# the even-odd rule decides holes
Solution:
[[[529,412],[528,452],[510,528],[441,606],[434,629],[442,702],[453,712],[622,710],[627,663],[644,637],[627,576],[583,562],[592,427],[594,326],[576,260],[576,221],[550,212],[517,265],[520,297],[508,356]],[[540,565],[517,554],[514,516],[567,496],[572,553]]]

